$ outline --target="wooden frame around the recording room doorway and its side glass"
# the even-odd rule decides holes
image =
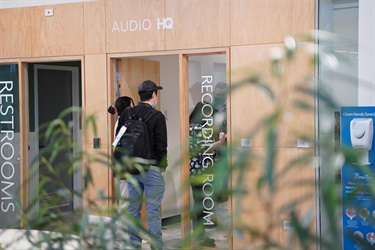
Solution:
[[[230,64],[230,48],[229,47],[222,47],[222,48],[213,48],[213,49],[192,49],[192,50],[179,50],[179,51],[157,51],[157,52],[139,52],[139,53],[119,53],[119,54],[111,54],[107,56],[108,60],[108,105],[114,102],[114,93],[116,94],[116,59],[122,58],[131,58],[131,57],[148,57],[148,56],[168,56],[168,55],[175,55],[179,57],[179,98],[180,103],[180,140],[188,142],[189,139],[189,81],[188,81],[188,57],[189,56],[196,56],[196,55],[214,55],[214,54],[225,54],[226,55],[226,69],[227,72],[230,72],[231,64]],[[231,78],[230,74],[226,75],[227,86],[230,88],[231,86]],[[227,129],[229,133],[227,134],[227,141],[231,143],[231,100],[230,94],[227,95]],[[113,125],[114,121],[109,118],[109,124]],[[108,138],[111,138],[110,136]],[[108,145],[111,142],[108,141]],[[181,237],[183,239],[190,239],[190,186],[184,185],[185,180],[189,178],[189,159],[187,157],[186,152],[188,152],[189,145],[188,143],[181,144],[181,165],[180,169],[182,170],[181,175],[181,190],[182,190],[182,197],[181,197]],[[231,162],[231,156],[228,156],[228,164]],[[113,186],[113,184],[110,183]],[[232,178],[231,173],[228,176],[228,187],[232,186]],[[233,232],[232,232],[232,198],[229,196],[228,198],[228,217],[229,217],[229,227],[228,227],[228,249],[233,249]],[[190,243],[188,243],[189,245]]]

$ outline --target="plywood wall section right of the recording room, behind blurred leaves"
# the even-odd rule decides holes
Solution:
[[[287,246],[288,230],[283,228],[283,223],[290,220],[290,210],[283,209],[306,198],[298,205],[297,213],[305,215],[309,209],[315,212],[315,170],[311,160],[314,152],[314,95],[313,85],[308,81],[314,71],[312,55],[304,49],[305,45],[308,43],[298,45],[302,48],[292,60],[281,60],[278,68],[281,71],[276,71],[280,74],[273,71],[275,64],[271,63],[270,55],[275,50],[285,52],[283,44],[232,46],[231,49],[231,135],[234,152],[243,152],[249,158],[242,176],[248,193],[234,198],[234,226],[258,229],[260,234],[284,246]],[[310,91],[309,94],[301,92],[300,88]],[[305,102],[311,109],[301,109],[296,106],[297,101]],[[274,152],[267,148],[271,129],[275,130]],[[241,139],[250,140],[251,147],[241,147]],[[299,148],[297,140],[306,140],[309,146]],[[295,164],[306,155],[310,160]],[[259,180],[267,176],[270,167],[266,165],[267,160],[271,161],[272,157],[275,157],[273,175],[268,176],[264,188],[259,189]],[[237,160],[235,153],[235,166]],[[234,188],[240,183],[238,178],[234,174]],[[272,180],[272,183],[267,180]],[[274,185],[273,191],[271,184]],[[241,213],[235,212],[241,210]],[[249,243],[253,246],[262,243],[250,230],[243,232],[246,240],[234,235],[234,249],[242,249]]]

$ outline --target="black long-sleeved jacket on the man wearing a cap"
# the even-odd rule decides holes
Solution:
[[[148,120],[147,128],[150,136],[152,159],[157,160],[158,167],[164,172],[168,166],[167,161],[167,123],[165,116],[159,110],[155,110],[148,103],[139,102],[137,106],[131,108],[132,113],[138,115],[140,118],[146,117],[150,112],[155,112],[154,115]],[[119,119],[116,134],[128,120],[129,109],[125,109]]]

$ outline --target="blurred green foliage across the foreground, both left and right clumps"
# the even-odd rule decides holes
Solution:
[[[312,68],[322,64],[334,67],[338,61],[338,55],[326,48],[318,47],[317,39],[329,38],[326,35],[317,38],[316,34],[312,34],[297,41],[293,37],[287,37],[282,46],[273,49],[271,60],[268,62],[269,72],[267,72],[271,75],[272,81],[279,82],[279,84],[288,83],[289,78],[287,78],[286,72],[291,74],[293,71],[298,71],[298,68],[287,71],[287,67],[295,62],[299,53],[308,55],[305,58]],[[339,105],[331,98],[330,93],[324,90],[319,79],[316,79],[315,72],[311,71],[310,73],[304,78],[304,82],[300,82],[293,89],[302,97],[295,100],[294,107],[306,113],[311,112],[312,116],[315,115],[314,112],[317,112],[318,104],[338,109]],[[241,135],[241,138],[254,138],[256,135],[264,134],[264,152],[259,154],[252,147],[243,150],[236,146],[238,145],[237,141],[232,141],[221,152],[222,157],[216,163],[215,190],[219,196],[229,195],[235,203],[231,214],[231,219],[235,223],[231,225],[230,219],[220,218],[220,225],[227,229],[231,228],[237,239],[254,242],[253,245],[245,247],[246,249],[316,249],[319,247],[337,249],[338,242],[341,242],[342,239],[342,225],[338,223],[341,220],[342,201],[337,192],[340,183],[334,177],[339,173],[345,160],[356,161],[358,155],[352,149],[337,145],[338,142],[332,140],[332,133],[321,133],[320,130],[315,130],[313,132],[317,132],[317,134],[302,135],[302,138],[311,143],[311,150],[298,155],[297,158],[283,161],[281,168],[277,167],[279,159],[282,157],[278,147],[280,132],[282,132],[279,128],[287,111],[284,106],[284,97],[275,93],[268,79],[258,72],[249,74],[246,78],[231,84],[229,94],[241,91],[245,86],[253,86],[261,90],[274,105],[269,115],[256,121],[256,125],[248,134]],[[127,211],[119,212],[116,205],[103,206],[103,204],[108,204],[108,201],[119,200],[119,197],[107,197],[103,191],[99,190],[100,200],[94,201],[87,198],[87,193],[95,184],[91,172],[93,169],[90,166],[101,165],[109,167],[113,171],[118,171],[118,168],[112,157],[104,152],[95,151],[93,155],[82,151],[80,145],[74,144],[71,132],[72,124],[64,122],[64,117],[71,112],[78,112],[79,115],[82,115],[80,110],[70,109],[49,123],[47,127],[42,128],[44,133],[41,140],[44,141],[45,147],[40,150],[38,157],[33,161],[28,175],[30,178],[25,185],[38,184],[34,190],[33,199],[29,201],[26,208],[21,210],[22,214],[20,215],[26,236],[36,248],[44,246],[47,249],[63,249],[63,246],[70,242],[76,249],[112,249],[112,245],[116,241],[121,246],[135,249],[135,246],[132,246],[125,236],[128,226],[139,227],[142,234],[150,236],[147,229],[134,221]],[[86,117],[83,131],[94,131],[94,134],[97,134],[95,120],[95,117]],[[330,126],[326,131],[334,131],[334,124],[330,124]],[[298,136],[295,139],[301,138],[301,135]],[[318,140],[316,140],[317,138]],[[67,152],[73,153],[67,154]],[[66,155],[69,157],[63,158],[63,161],[57,161],[59,157]],[[57,162],[59,165],[56,165]],[[325,166],[330,166],[326,171],[326,173],[330,171],[330,174],[320,175],[319,168],[322,163]],[[43,176],[36,171],[41,165],[43,165],[45,173]],[[76,173],[77,169],[80,169],[79,167],[84,170],[81,176],[82,190],[69,190],[64,183],[64,177],[66,173],[69,175]],[[296,175],[306,169],[314,174],[306,178],[303,175]],[[255,183],[252,183],[254,189],[249,189],[249,173],[254,173],[256,176]],[[290,175],[296,178],[290,178]],[[228,176],[232,180],[229,188],[226,186]],[[126,177],[132,181],[131,175],[126,175]],[[289,182],[285,183],[285,180]],[[51,185],[62,191],[63,195],[67,195],[69,200],[80,200],[84,206],[71,211],[49,209],[48,206],[40,207],[40,197],[48,195],[45,190]],[[303,193],[303,196],[289,194],[290,199],[283,203],[280,202],[278,195],[285,186],[307,191]],[[375,190],[375,188],[373,189]],[[249,197],[256,201],[249,200]],[[259,211],[247,210],[248,207],[242,206],[241,201],[260,204],[256,209],[262,211],[262,215],[259,215],[265,219],[262,221],[262,225],[243,221],[243,218],[249,218],[242,217],[244,214],[255,218]],[[102,215],[108,220],[99,219],[96,223],[92,223],[90,214]],[[324,214],[324,219],[329,220],[325,222],[326,225],[329,225],[329,234],[327,235],[324,232],[317,234],[317,231],[321,229],[319,223],[322,219],[321,214]],[[288,230],[283,230],[286,237],[280,241],[278,239],[280,239],[280,230],[284,221],[289,222],[286,225]],[[30,237],[32,230],[35,229],[51,230],[57,234],[45,234],[43,237],[35,239]],[[181,242],[177,245],[185,246],[190,239],[180,240]],[[369,247],[365,243],[364,245],[364,247]],[[7,249],[6,246],[2,247]],[[198,246],[194,247],[194,249],[198,249]]]

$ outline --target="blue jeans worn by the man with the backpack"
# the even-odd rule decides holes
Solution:
[[[146,213],[148,232],[152,238],[153,249],[163,249],[163,238],[161,233],[160,205],[163,199],[165,184],[164,177],[159,171],[150,169],[146,173],[132,175],[137,181],[142,193],[134,185],[127,181],[129,188],[129,213],[140,222],[143,192],[146,198]],[[129,228],[130,241],[135,245],[141,244],[139,230]]]

